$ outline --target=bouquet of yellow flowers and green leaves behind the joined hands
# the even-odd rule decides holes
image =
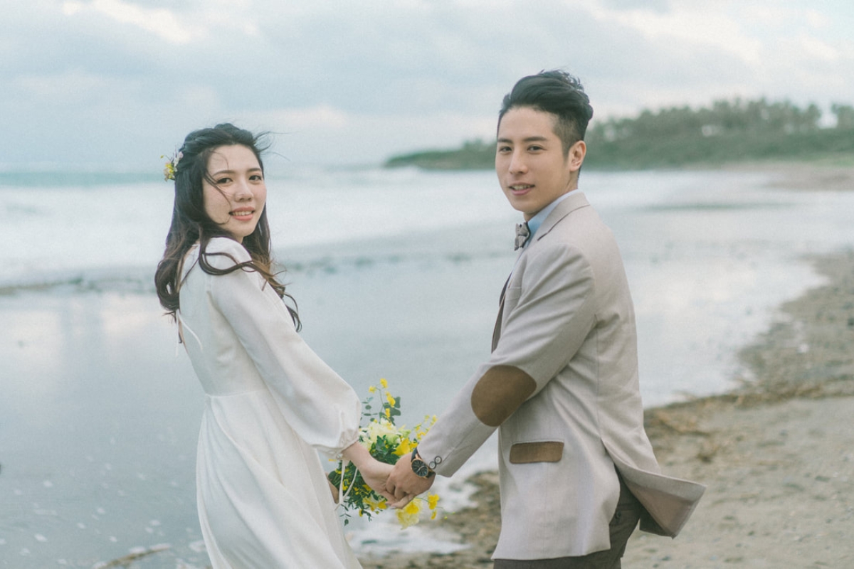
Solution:
[[[377,461],[395,464],[401,456],[412,452],[418,445],[418,441],[436,422],[436,415],[425,416],[424,421],[411,429],[405,426],[397,427],[395,417],[401,415],[401,398],[392,396],[388,387],[388,381],[381,379],[379,386],[368,388],[371,396],[363,402],[362,412],[362,415],[368,419],[368,424],[360,428],[359,441]],[[382,402],[380,409],[374,410],[371,405],[374,395],[377,395]],[[344,525],[348,524],[351,511],[357,512],[360,517],[367,516],[368,520],[371,520],[372,514],[388,508],[385,498],[372,491],[371,486],[366,485],[361,473],[352,462],[344,467],[343,462],[339,461],[338,467],[329,473],[329,479],[341,490],[339,506],[343,508]],[[417,524],[425,505],[431,512],[430,520],[435,520],[438,502],[437,494],[428,494],[426,498],[417,496],[404,508],[397,510],[397,520],[402,528]]]

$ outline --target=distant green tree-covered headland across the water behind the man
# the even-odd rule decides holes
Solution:
[[[711,107],[645,110],[634,118],[594,118],[588,128],[584,165],[601,169],[722,164],[744,160],[811,160],[854,153],[854,107],[834,103],[835,125],[822,128],[815,104],[716,101]],[[492,142],[472,140],[462,148],[395,156],[388,167],[492,168]]]

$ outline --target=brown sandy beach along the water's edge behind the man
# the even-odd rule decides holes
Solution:
[[[749,377],[720,395],[646,409],[664,472],[708,490],[675,540],[635,531],[623,567],[846,566],[854,561],[854,250],[810,257],[828,282],[781,305],[740,350]],[[498,475],[473,508],[429,525],[469,546],[360,558],[366,569],[491,567]]]

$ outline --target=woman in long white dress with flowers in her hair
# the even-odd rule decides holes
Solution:
[[[359,398],[301,340],[272,274],[263,149],[217,125],[167,164],[175,205],[155,284],[206,393],[202,534],[214,569],[359,567],[316,450],[383,493],[391,467],[358,443]]]

